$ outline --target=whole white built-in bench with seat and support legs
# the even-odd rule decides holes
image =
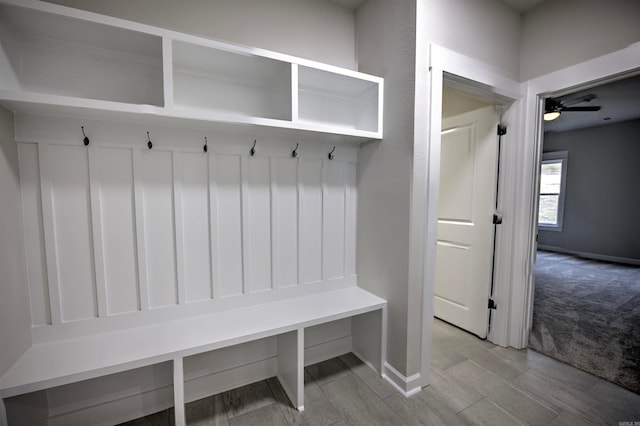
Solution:
[[[382,371],[386,301],[358,287],[117,332],[33,345],[0,378],[4,398],[166,361],[173,363],[176,425],[185,424],[183,359],[277,336],[278,379],[304,409],[305,328],[351,318],[353,352]],[[4,404],[0,407],[7,424]]]

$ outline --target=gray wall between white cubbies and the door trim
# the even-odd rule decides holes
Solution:
[[[356,14],[360,68],[385,78],[384,140],[361,145],[358,154],[358,285],[389,302],[387,361],[402,374],[409,344],[415,24],[410,1],[369,0]]]

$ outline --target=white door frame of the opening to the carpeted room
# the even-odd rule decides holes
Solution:
[[[632,75],[640,74],[640,42],[624,49],[545,74],[526,83],[525,126],[522,152],[521,187],[524,194],[518,209],[519,225],[514,235],[516,256],[524,260],[514,265],[513,302],[509,345],[524,348],[529,340],[533,322],[533,265],[537,249],[538,232],[538,168],[542,159],[544,139],[542,114],[544,99],[561,96],[577,90],[599,86]]]

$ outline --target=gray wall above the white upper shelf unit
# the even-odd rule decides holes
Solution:
[[[354,12],[328,1],[47,0],[354,69]]]

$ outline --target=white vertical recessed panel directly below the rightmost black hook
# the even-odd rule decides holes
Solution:
[[[323,214],[324,279],[344,277],[345,260],[345,167],[339,161],[326,162]]]

